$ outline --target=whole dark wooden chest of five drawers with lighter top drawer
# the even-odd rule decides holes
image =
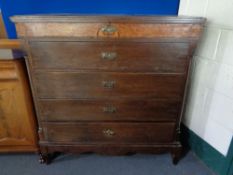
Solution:
[[[42,160],[54,152],[170,152],[205,20],[15,16],[27,52]]]

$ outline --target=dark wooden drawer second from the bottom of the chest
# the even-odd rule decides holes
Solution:
[[[42,121],[175,121],[181,100],[40,100]]]

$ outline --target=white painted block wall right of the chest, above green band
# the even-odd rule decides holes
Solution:
[[[179,15],[208,20],[183,122],[226,155],[233,136],[233,0],[181,0]]]

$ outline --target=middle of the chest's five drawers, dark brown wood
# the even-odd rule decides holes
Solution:
[[[39,98],[181,98],[185,75],[36,71]]]

